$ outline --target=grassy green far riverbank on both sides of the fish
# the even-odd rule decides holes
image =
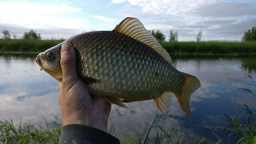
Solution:
[[[0,52],[42,52],[62,40],[0,39]],[[160,42],[170,54],[256,54],[256,42]]]

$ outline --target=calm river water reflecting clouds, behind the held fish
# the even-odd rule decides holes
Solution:
[[[20,117],[39,123],[43,121],[41,116],[47,117],[49,122],[55,120],[52,114],[61,118],[57,81],[40,71],[34,60],[36,55],[0,54],[0,117],[13,118],[15,123],[19,122]],[[221,69],[220,57],[230,69],[229,76],[238,111],[245,113],[243,104],[256,109],[254,97],[249,93],[236,91],[240,87],[253,88],[251,81],[244,78],[244,72],[239,67],[250,71],[253,79],[256,79],[254,57],[174,55],[172,60],[176,69],[197,76],[202,87],[191,96],[191,119],[186,117],[174,97],[170,115],[164,116],[158,112],[155,126],[183,132],[185,141],[190,141],[200,134],[208,139],[216,139],[213,130],[206,127],[223,126],[227,123],[223,113],[235,113],[234,106],[230,105],[231,91],[227,77]],[[155,103],[152,100],[137,101],[128,103],[127,106],[128,108],[121,108],[112,105],[112,123],[109,121],[109,126],[114,126],[112,134],[139,134],[142,137],[157,111]],[[222,139],[228,138],[227,133],[221,130],[214,133]],[[155,139],[155,136],[156,131],[153,129],[149,140]]]

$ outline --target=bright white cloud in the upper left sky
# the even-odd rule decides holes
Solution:
[[[27,29],[76,29],[79,32],[90,30],[86,19],[67,18],[66,14],[81,14],[82,9],[64,3],[0,2],[0,23],[27,27]]]

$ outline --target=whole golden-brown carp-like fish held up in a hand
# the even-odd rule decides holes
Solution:
[[[137,19],[127,17],[112,31],[85,32],[68,38],[76,52],[78,77],[93,96],[120,107],[153,99],[160,112],[170,112],[176,96],[188,117],[190,96],[200,86],[197,77],[171,65],[171,56]],[[59,43],[37,55],[37,64],[62,80]]]

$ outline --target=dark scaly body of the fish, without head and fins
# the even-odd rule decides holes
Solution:
[[[79,76],[95,78],[92,95],[142,101],[164,91],[181,93],[183,73],[144,43],[115,31],[87,32],[70,37]]]

